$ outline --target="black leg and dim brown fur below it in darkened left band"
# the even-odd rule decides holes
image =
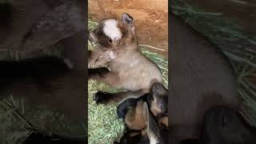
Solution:
[[[66,116],[85,119],[84,71],[71,69],[63,58],[2,61],[0,67],[0,99],[12,94],[26,98],[30,106],[51,106]]]

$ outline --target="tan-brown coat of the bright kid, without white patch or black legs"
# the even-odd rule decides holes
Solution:
[[[138,50],[134,24],[119,21],[118,27],[122,31],[122,38],[110,42],[110,38],[102,32],[102,23],[106,20],[102,20],[97,28],[90,31],[90,40],[98,43],[102,50],[112,50],[115,58],[106,62],[110,73],[104,75],[89,73],[89,78],[122,90],[146,92],[149,91],[153,80],[162,82],[162,74],[158,66]],[[89,59],[89,62],[93,63],[94,60]],[[118,94],[115,96],[117,97],[113,98],[118,100]]]

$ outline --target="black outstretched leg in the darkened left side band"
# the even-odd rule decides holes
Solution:
[[[46,77],[46,75],[65,73],[65,71],[71,70],[63,58],[52,56],[28,58],[22,61],[0,61],[0,66],[0,77],[3,78],[20,78],[34,74]]]

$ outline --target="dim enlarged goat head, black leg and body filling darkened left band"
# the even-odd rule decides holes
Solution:
[[[8,49],[18,59],[0,62],[1,98],[25,97],[34,105],[51,106],[85,121],[85,4],[82,0],[0,2],[0,49]],[[61,46],[62,58],[42,57],[40,50],[49,46]]]

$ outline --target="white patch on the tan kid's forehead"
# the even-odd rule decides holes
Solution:
[[[103,32],[112,40],[118,40],[122,38],[122,33],[118,28],[118,21],[116,19],[107,19],[103,22]]]

